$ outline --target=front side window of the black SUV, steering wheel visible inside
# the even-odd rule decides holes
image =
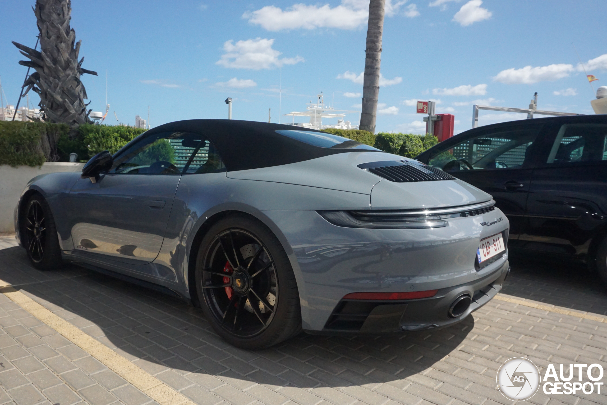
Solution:
[[[529,158],[541,125],[507,127],[484,132],[466,141],[437,150],[428,164],[446,172],[478,169],[514,169]]]

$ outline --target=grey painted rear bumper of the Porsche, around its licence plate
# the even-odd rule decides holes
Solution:
[[[458,288],[473,293],[482,287],[479,283],[488,280],[483,284],[487,286],[501,269],[507,270],[507,252],[482,269],[474,266],[481,239],[498,232],[507,236],[509,224],[499,209],[450,218],[447,226],[435,229],[348,228],[335,226],[314,211],[262,213],[288,252],[305,330],[324,330],[348,293],[439,290],[432,298],[435,302]],[[413,314],[413,301],[405,304],[409,309],[404,320]],[[413,321],[441,325],[451,318]]]

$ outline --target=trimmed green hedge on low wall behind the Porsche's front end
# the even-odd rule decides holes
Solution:
[[[0,121],[0,165],[41,166],[44,162],[68,162],[70,153],[86,162],[103,150],[115,153],[144,132],[129,126],[83,124],[70,137],[65,124]]]

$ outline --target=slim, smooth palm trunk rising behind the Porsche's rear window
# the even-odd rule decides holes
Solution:
[[[381,36],[384,31],[385,0],[371,0],[365,50],[365,75],[362,85],[362,112],[359,129],[375,133],[375,118],[379,96],[379,64],[381,63]]]

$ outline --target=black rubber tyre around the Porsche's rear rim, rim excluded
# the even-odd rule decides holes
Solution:
[[[205,295],[202,289],[202,265],[205,259],[209,245],[215,239],[215,236],[226,229],[241,229],[246,232],[252,233],[258,238],[263,245],[268,249],[268,252],[272,256],[274,261],[274,267],[276,272],[277,284],[278,284],[278,300],[274,306],[276,313],[268,326],[263,332],[258,335],[252,336],[251,338],[240,338],[234,336],[227,330],[220,326],[219,322],[215,320],[212,310],[209,308],[209,304],[206,303]],[[217,224],[211,227],[206,233],[205,237],[200,244],[198,249],[198,255],[196,258],[196,290],[198,293],[198,300],[200,300],[200,306],[205,313],[206,318],[211,323],[211,326],[217,332],[218,335],[228,343],[241,347],[243,349],[260,349],[263,347],[271,346],[274,343],[282,340],[279,336],[285,335],[285,319],[288,317],[288,300],[290,295],[290,284],[289,275],[293,273],[291,263],[289,262],[288,256],[284,249],[280,245],[280,242],[274,236],[274,234],[262,223],[248,218],[246,216],[234,216],[220,220]],[[293,281],[294,282],[294,281]],[[292,294],[293,292],[291,292]],[[299,302],[299,297],[297,298]],[[293,328],[291,328],[293,329]],[[293,331],[289,331],[288,336]],[[287,336],[287,337],[288,337]]]

